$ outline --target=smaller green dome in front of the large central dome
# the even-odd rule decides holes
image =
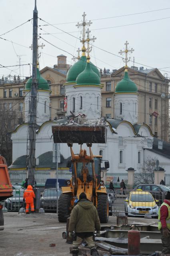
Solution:
[[[92,65],[87,62],[86,68],[80,73],[76,79],[76,85],[98,85],[100,84],[100,77],[92,70]]]

